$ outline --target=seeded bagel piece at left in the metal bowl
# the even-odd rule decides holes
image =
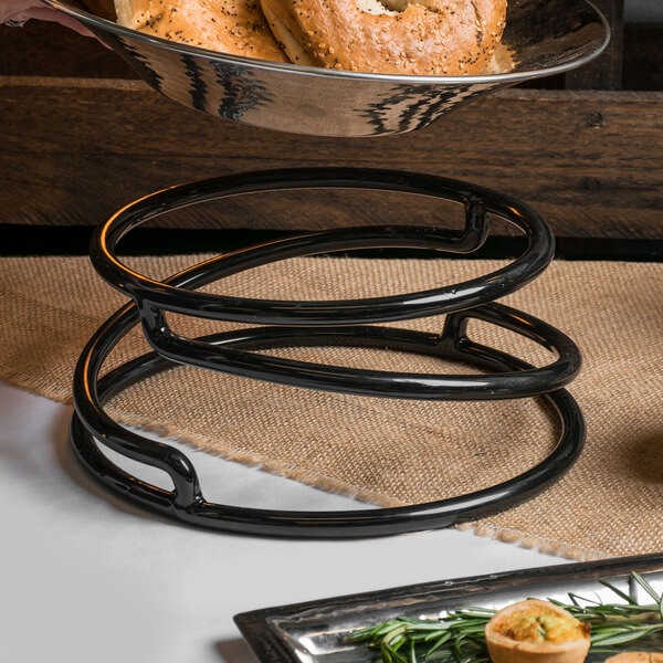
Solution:
[[[117,22],[210,51],[290,62],[257,0],[115,0]]]

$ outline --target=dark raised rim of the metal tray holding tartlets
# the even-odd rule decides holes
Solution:
[[[486,593],[491,593],[502,589],[496,587],[499,583],[505,586],[504,589],[511,589],[517,585],[536,585],[537,581],[544,580],[546,583],[554,583],[564,579],[596,578],[599,576],[619,576],[622,573],[625,575],[630,573],[632,570],[640,572],[663,572],[663,552],[636,555],[631,557],[615,557],[594,561],[559,564],[511,571],[483,573],[481,576],[464,576],[461,578],[449,578],[444,580],[419,582],[414,585],[403,585],[355,594],[343,594],[338,597],[303,601],[299,603],[287,603],[284,606],[261,608],[259,610],[240,612],[233,617],[233,620],[251,646],[252,651],[257,656],[259,661],[265,663],[273,663],[274,661],[281,661],[282,663],[301,663],[302,660],[296,657],[295,651],[287,646],[271,628],[269,619],[275,613],[277,613],[281,618],[288,618],[295,617],[298,613],[309,611],[312,609],[320,608],[323,604],[328,609],[333,606],[349,608],[354,603],[370,603],[393,600],[398,599],[399,597],[412,598],[415,594],[425,594],[442,588],[450,592],[450,599],[453,599],[454,596],[457,596],[460,599],[463,594],[469,593],[472,588],[478,585],[485,585],[487,581],[490,581],[491,587],[486,590]],[[275,654],[280,657],[274,659]]]

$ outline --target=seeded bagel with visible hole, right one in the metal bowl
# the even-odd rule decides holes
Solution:
[[[506,0],[261,2],[293,62],[385,74],[478,74],[506,20]]]

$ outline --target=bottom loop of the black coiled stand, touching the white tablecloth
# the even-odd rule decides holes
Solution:
[[[183,523],[221,530],[297,537],[380,536],[446,527],[487,515],[535,495],[559,478],[573,464],[582,449],[582,414],[568,391],[560,389],[543,397],[557,412],[562,429],[552,452],[527,472],[490,488],[427,504],[369,511],[304,512],[209,503],[204,499],[196,471],[185,454],[125,429],[103,410],[102,403],[122,389],[173,367],[173,364],[157,352],[144,355],[105,376],[98,383],[97,396],[98,371],[104,358],[136,322],[135,307],[123,308],[97,332],[81,356],[74,379],[76,414],[72,419],[71,439],[83,464],[108,487],[144,507]],[[370,341],[376,341],[375,345],[379,347],[425,352],[427,347],[430,348],[430,337],[434,336],[385,327],[361,329],[361,338],[345,334],[334,336],[334,343],[373,345]],[[314,343],[309,337],[311,332],[306,327],[254,328],[208,336],[202,340],[211,345],[252,348],[293,344],[301,346],[307,340],[309,344]],[[327,334],[336,332],[335,328],[325,330]],[[445,347],[451,349],[450,346]],[[475,360],[480,366],[490,364],[493,368],[501,369],[528,368],[527,364],[503,352],[480,346],[477,348],[463,348],[462,359]],[[434,355],[444,356],[444,352],[435,349]],[[175,491],[166,491],[127,474],[99,451],[97,442],[135,461],[166,471],[172,478]]]

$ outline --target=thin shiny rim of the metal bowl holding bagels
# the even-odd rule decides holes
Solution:
[[[48,4],[56,11],[77,19],[84,24],[93,25],[99,30],[113,32],[120,36],[126,36],[136,41],[141,41],[151,45],[160,46],[169,51],[178,51],[180,53],[196,55],[198,57],[204,57],[207,60],[215,60],[227,62],[232,65],[251,66],[254,69],[267,70],[267,71],[282,71],[292,74],[303,76],[315,76],[315,77],[332,77],[341,80],[354,80],[354,81],[373,81],[379,83],[397,83],[400,85],[476,85],[476,84],[515,84],[520,81],[529,78],[538,78],[541,76],[549,76],[554,74],[560,74],[567,72],[577,66],[587,64],[594,57],[598,57],[608,46],[610,42],[610,25],[606,17],[597,9],[597,7],[590,0],[577,0],[579,4],[586,4],[589,7],[603,25],[603,40],[601,43],[590,53],[576,57],[558,64],[556,66],[546,67],[541,70],[534,70],[528,72],[516,72],[506,74],[482,74],[482,75],[470,75],[470,76],[419,76],[419,75],[404,75],[404,74],[373,74],[370,72],[348,72],[345,70],[327,70],[324,67],[315,66],[303,66],[301,64],[293,63],[281,63],[270,62],[266,60],[255,60],[253,57],[244,57],[242,55],[231,55],[228,53],[218,53],[215,51],[209,51],[207,49],[200,49],[198,46],[190,46],[187,44],[180,44],[179,42],[172,42],[160,36],[152,36],[131,30],[130,28],[124,28],[113,21],[102,19],[82,9],[70,7],[69,4],[61,2],[60,0],[41,0],[44,4]]]

